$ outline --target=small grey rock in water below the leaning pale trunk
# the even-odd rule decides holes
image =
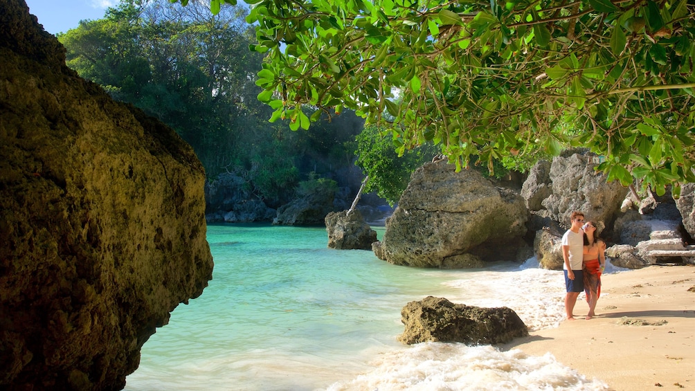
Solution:
[[[325,223],[331,249],[370,250],[372,243],[377,241],[377,231],[364,221],[359,210],[331,212]]]

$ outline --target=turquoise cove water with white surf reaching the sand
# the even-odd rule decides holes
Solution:
[[[539,287],[536,307],[528,303],[533,298],[528,290],[512,292],[524,298],[518,307],[541,318],[522,317],[527,325],[557,322],[559,317],[537,314],[562,316],[562,274],[557,294],[557,272],[508,264],[486,271],[400,267],[378,260],[372,251],[328,249],[325,228],[212,225],[208,242],[215,260],[213,280],[201,297],[177,307],[169,324],[148,340],[140,367],[126,379],[126,390],[463,390],[468,388],[457,384],[474,384],[471,376],[480,379],[480,363],[444,381],[442,376],[452,373],[452,359],[468,356],[470,363],[473,354],[481,363],[502,360],[507,368],[520,363],[524,371],[548,367],[543,360],[490,347],[406,347],[396,337],[403,331],[400,310],[408,301],[433,295],[473,305],[509,305],[509,291],[491,289],[509,278]],[[551,300],[546,299],[548,290]],[[412,367],[403,373],[409,367],[404,360],[427,363],[427,369]],[[553,367],[562,367],[552,361]],[[518,378],[509,370],[505,376]],[[580,386],[574,389],[593,384],[569,368],[562,370]],[[414,383],[418,376],[421,380]],[[432,388],[432,381],[448,385]]]

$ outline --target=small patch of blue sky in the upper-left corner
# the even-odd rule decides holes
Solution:
[[[51,34],[65,33],[76,28],[81,20],[101,19],[106,8],[116,6],[117,0],[25,0],[29,13],[39,19],[44,30]]]

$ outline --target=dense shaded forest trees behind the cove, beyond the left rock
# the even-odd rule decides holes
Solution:
[[[256,38],[247,13],[241,6],[212,15],[201,3],[122,1],[58,39],[80,76],[172,126],[208,178],[242,176],[271,207],[293,197],[300,181],[359,186],[359,174],[355,183],[347,175],[363,127],[354,112],[309,131],[288,131],[289,119],[268,122],[272,110],[256,99],[263,58],[248,49]]]

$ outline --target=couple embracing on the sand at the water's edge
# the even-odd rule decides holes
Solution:
[[[562,236],[562,258],[564,258],[565,312],[567,319],[574,320],[572,310],[582,290],[587,295],[589,313],[586,319],[596,316],[596,302],[601,292],[601,273],[605,269],[606,244],[596,235],[596,224],[584,222],[584,214],[573,212],[571,226]]]

